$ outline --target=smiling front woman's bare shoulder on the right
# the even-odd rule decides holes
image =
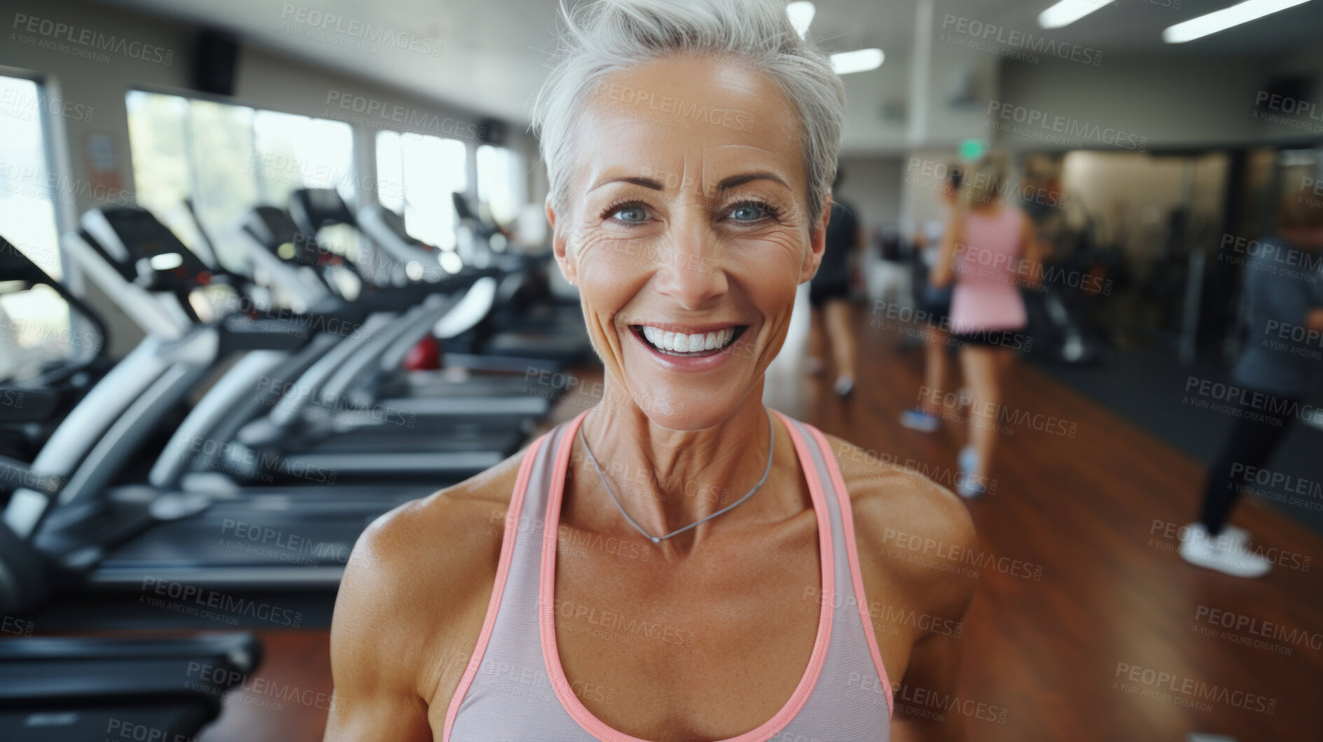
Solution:
[[[913,470],[880,460],[840,438],[827,439],[849,492],[865,587],[869,571],[885,573],[888,583],[925,608],[938,615],[963,614],[974,582],[941,566],[978,548],[964,501]],[[901,558],[910,556],[916,558]]]

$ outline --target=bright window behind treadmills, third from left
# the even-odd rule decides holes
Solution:
[[[377,200],[402,213],[414,238],[455,249],[451,194],[468,189],[468,151],[458,139],[377,132]]]

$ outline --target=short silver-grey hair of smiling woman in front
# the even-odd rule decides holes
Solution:
[[[565,209],[583,99],[613,73],[665,57],[710,56],[767,74],[794,103],[816,222],[836,175],[845,89],[827,56],[795,32],[783,0],[591,0],[574,11],[564,1],[552,74],[533,103],[557,210]]]

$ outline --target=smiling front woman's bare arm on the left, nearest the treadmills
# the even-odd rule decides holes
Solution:
[[[476,479],[504,487],[508,470]],[[478,641],[500,556],[507,504],[466,499],[470,483],[401,505],[355,545],[331,623],[328,742],[433,739]]]

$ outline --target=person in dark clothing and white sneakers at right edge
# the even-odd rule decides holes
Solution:
[[[1241,275],[1249,343],[1234,384],[1244,390],[1244,414],[1208,472],[1199,521],[1180,544],[1187,562],[1234,577],[1262,577],[1271,562],[1246,548],[1249,533],[1228,516],[1299,417],[1310,380],[1323,374],[1323,208],[1308,194],[1287,193],[1277,234],[1262,245]]]

